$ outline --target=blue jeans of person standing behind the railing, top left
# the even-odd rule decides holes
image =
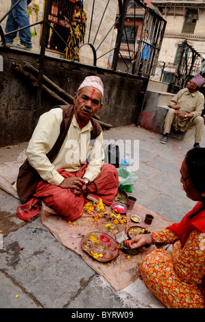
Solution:
[[[12,0],[12,6],[18,0]],[[29,18],[27,13],[27,0],[21,0],[18,5],[10,12],[5,25],[5,32],[12,32],[13,30],[22,28],[29,25]],[[8,36],[5,36],[6,44],[12,45],[14,38],[16,38],[17,32],[12,32]],[[19,32],[19,38],[21,45],[32,48],[32,40],[30,34],[30,28],[26,28]]]

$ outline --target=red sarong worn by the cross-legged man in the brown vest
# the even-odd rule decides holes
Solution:
[[[64,169],[58,169],[58,172],[64,178],[82,177],[86,170],[87,164],[75,173],[69,173]],[[112,164],[104,164],[101,167],[99,176],[87,186],[87,192],[96,199],[101,197],[103,203],[110,206],[114,197],[118,193],[119,177],[117,169]],[[47,207],[55,210],[58,214],[64,216],[67,221],[73,221],[81,216],[84,209],[86,195],[76,196],[71,189],[60,188],[49,184],[45,180],[40,180],[36,187],[34,197],[17,208],[19,219],[29,221],[39,213],[38,204],[40,200]]]

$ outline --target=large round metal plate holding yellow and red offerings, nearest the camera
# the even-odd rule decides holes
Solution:
[[[119,255],[119,245],[108,234],[91,232],[82,238],[82,249],[99,262],[108,262]]]

